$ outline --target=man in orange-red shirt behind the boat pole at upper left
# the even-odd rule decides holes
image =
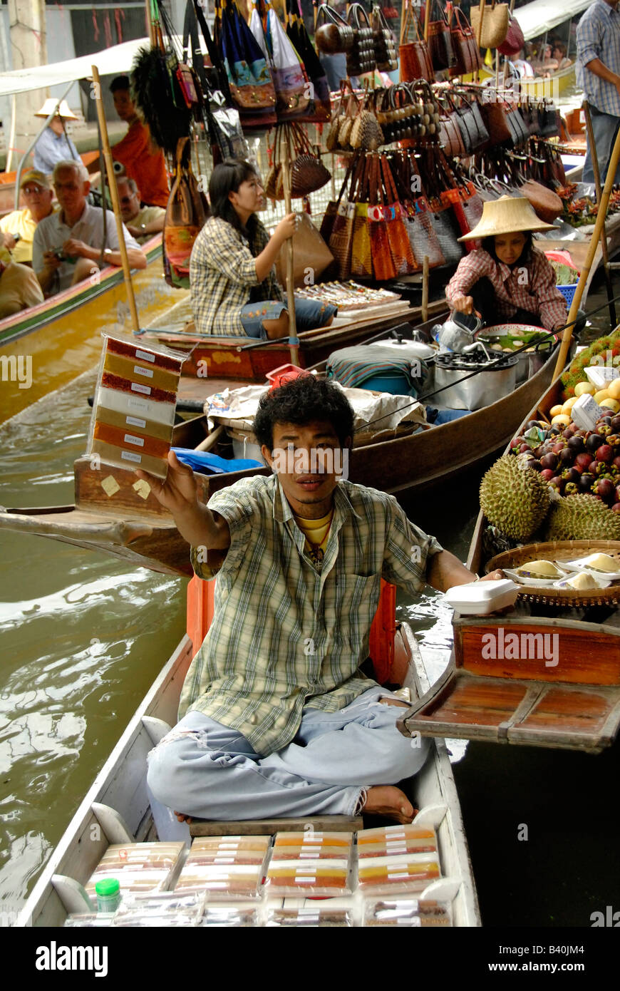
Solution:
[[[168,201],[168,176],[163,152],[155,145],[151,132],[143,124],[130,92],[128,75],[117,75],[110,83],[114,109],[129,131],[122,141],[112,146],[112,157],[125,166],[125,172],[138,183],[141,199],[152,206],[165,206]]]

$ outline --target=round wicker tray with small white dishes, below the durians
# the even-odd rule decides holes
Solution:
[[[496,554],[486,564],[485,572],[496,568],[518,568],[526,561],[555,561],[562,565],[563,561],[585,557],[595,552],[608,554],[618,559],[620,571],[620,541],[619,540],[556,540],[544,544],[526,544],[513,550]],[[620,603],[620,581],[614,582],[607,589],[591,589],[575,595],[569,589],[553,589],[548,586],[523,586],[519,599],[526,603],[544,603],[546,606],[613,606]]]

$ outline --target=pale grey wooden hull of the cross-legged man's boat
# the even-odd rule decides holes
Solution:
[[[426,688],[425,674],[416,654],[415,638],[407,627],[401,627],[395,648],[398,666],[405,671],[404,682],[411,688],[412,695],[417,696]],[[109,824],[118,820],[118,816],[134,840],[155,838],[147,794],[147,754],[167,727],[176,721],[180,690],[193,653],[192,642],[185,636],[156,678],[53,850],[20,915],[18,926],[63,925],[67,910],[52,883],[53,876],[70,877],[84,884],[108,842],[117,841],[112,833],[108,837],[105,829],[110,832]],[[432,757],[414,779],[413,785],[414,801],[419,808],[443,806],[446,810],[438,826],[438,834],[443,873],[454,881],[454,924],[459,927],[479,926],[459,797],[443,740],[436,741]],[[106,810],[102,810],[101,806],[114,812],[106,816]],[[182,828],[187,829],[186,826]],[[189,839],[188,830],[186,838]],[[436,895],[430,894],[429,897]]]

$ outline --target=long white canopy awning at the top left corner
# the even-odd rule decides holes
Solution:
[[[129,72],[138,50],[149,44],[148,38],[141,38],[135,42],[114,45],[103,52],[53,62],[52,65],[33,65],[30,68],[14,69],[12,72],[0,72],[0,97],[28,93],[62,83],[68,85],[69,82],[87,78],[93,65],[99,69],[99,75]]]

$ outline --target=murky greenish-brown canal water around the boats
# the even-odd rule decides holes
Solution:
[[[604,298],[593,291],[589,304]],[[608,329],[603,312],[590,335]],[[82,377],[0,427],[3,505],[72,502],[93,383],[94,373]],[[478,479],[452,483],[411,514],[463,560]],[[183,634],[186,581],[41,537],[2,531],[0,548],[0,924],[7,925]],[[449,646],[450,610],[431,590],[399,599],[398,615],[424,646]],[[454,766],[485,926],[589,927],[592,912],[620,909],[618,755],[617,745],[594,757],[466,746]]]

